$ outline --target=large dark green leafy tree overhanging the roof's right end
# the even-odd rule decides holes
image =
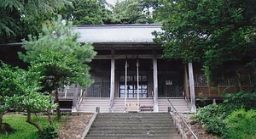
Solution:
[[[165,42],[164,57],[200,62],[209,81],[230,69],[225,64],[255,58],[253,0],[161,0],[160,5],[154,16],[163,32],[154,32],[154,41]]]

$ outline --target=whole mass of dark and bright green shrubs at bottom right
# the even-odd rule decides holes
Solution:
[[[224,138],[255,136],[255,132],[251,131],[251,128],[255,131],[255,98],[255,92],[226,94],[224,103],[199,108],[195,118],[201,121],[207,132],[214,135]],[[241,136],[232,136],[236,131],[238,134],[241,133],[239,130],[243,132]]]

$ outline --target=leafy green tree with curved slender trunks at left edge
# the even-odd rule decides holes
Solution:
[[[33,112],[42,112],[46,109],[54,108],[55,105],[50,103],[49,95],[39,92],[39,75],[37,72],[26,71],[24,69],[14,68],[3,64],[0,69],[0,131],[5,131],[3,124],[3,114],[9,108],[15,108],[18,111],[27,112],[29,124],[43,131],[41,125],[33,121],[31,115]]]

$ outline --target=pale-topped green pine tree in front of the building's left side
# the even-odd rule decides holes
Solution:
[[[72,29],[70,22],[64,25],[59,16],[51,24],[43,25],[39,36],[29,36],[29,41],[24,40],[22,47],[26,53],[19,53],[21,59],[35,67],[33,71],[40,72],[44,77],[41,80],[44,91],[49,94],[55,91],[56,103],[60,86],[72,83],[89,86],[91,83],[87,63],[96,52],[91,44],[77,42],[79,35]],[[60,107],[57,107],[57,112],[61,116]]]

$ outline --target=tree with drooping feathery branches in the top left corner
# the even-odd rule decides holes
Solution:
[[[37,34],[38,25],[65,6],[72,1],[0,0],[0,42],[20,42],[28,32]]]

